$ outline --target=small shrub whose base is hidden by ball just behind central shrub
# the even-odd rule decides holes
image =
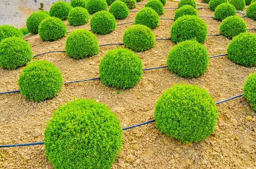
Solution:
[[[135,24],[145,25],[148,28],[154,29],[160,23],[159,15],[154,9],[144,7],[135,16]]]

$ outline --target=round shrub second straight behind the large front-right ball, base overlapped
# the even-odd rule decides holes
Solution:
[[[208,27],[204,20],[197,16],[185,15],[172,24],[171,38],[174,42],[196,40],[203,43],[207,38]]]

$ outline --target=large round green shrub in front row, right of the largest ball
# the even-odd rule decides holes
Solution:
[[[207,90],[186,84],[163,91],[154,110],[156,127],[183,143],[209,137],[215,130],[217,116],[215,101]]]

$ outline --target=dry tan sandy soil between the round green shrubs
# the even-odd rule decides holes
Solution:
[[[145,3],[143,0],[140,3]],[[201,2],[198,0],[198,2]],[[198,7],[204,5],[198,4]],[[142,8],[137,6],[133,10]],[[176,1],[168,0],[165,7],[177,7]],[[173,18],[175,9],[166,9],[161,18]],[[209,9],[198,9],[199,16],[213,16]],[[125,20],[134,21],[136,12],[131,12]],[[209,27],[209,34],[219,34],[221,22],[203,18]],[[248,28],[256,28],[256,22],[245,17]],[[89,23],[73,27],[90,29]],[[161,20],[153,30],[156,38],[169,38],[172,20]],[[131,24],[117,26],[107,35],[97,35],[99,45],[122,42],[124,30]],[[255,31],[251,31],[254,32]],[[26,37],[34,54],[47,51],[64,50],[66,37],[55,42],[43,42],[38,35]],[[229,39],[223,36],[207,37],[203,43],[209,56],[226,54]],[[136,52],[143,61],[143,68],[166,65],[169,50],[175,45],[171,40],[157,41],[154,48]],[[99,61],[106,51],[118,45],[100,47],[98,55],[72,59],[65,53],[52,53],[36,59],[54,63],[61,70],[64,81],[98,77]],[[124,46],[122,46],[124,47]],[[33,59],[32,59],[33,60]],[[17,80],[22,68],[16,70],[0,69],[0,92],[18,90]],[[147,70],[143,78],[133,88],[117,91],[108,88],[100,80],[63,85],[54,99],[36,103],[26,100],[20,93],[0,95],[0,145],[21,144],[43,141],[46,122],[53,111],[66,100],[93,98],[107,104],[117,114],[121,127],[128,127],[153,119],[154,105],[158,96],[173,83],[186,82],[204,87],[215,101],[221,101],[243,93],[244,81],[256,68],[236,65],[221,56],[210,59],[206,73],[195,79],[180,78],[167,68]],[[146,124],[123,132],[123,148],[118,154],[113,169],[255,169],[256,167],[256,113],[243,97],[218,104],[216,130],[204,141],[182,144],[176,139],[161,133],[155,123]],[[251,117],[251,118],[250,118]],[[44,145],[23,146],[0,149],[0,168],[2,169],[52,169],[44,155]]]

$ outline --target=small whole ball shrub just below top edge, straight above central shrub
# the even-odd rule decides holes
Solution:
[[[116,0],[111,4],[108,10],[116,19],[125,19],[129,15],[129,8],[120,0]]]

